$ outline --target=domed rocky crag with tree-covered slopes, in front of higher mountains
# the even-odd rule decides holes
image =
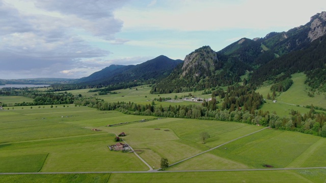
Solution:
[[[232,57],[213,51],[209,46],[188,54],[183,65],[155,84],[151,93],[179,93],[231,85],[251,67]]]

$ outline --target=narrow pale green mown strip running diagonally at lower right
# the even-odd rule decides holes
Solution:
[[[286,167],[300,167],[302,166],[306,160],[311,157],[311,155],[315,152],[317,148],[320,147],[324,143],[324,139],[319,139],[317,142],[312,144],[307,150],[304,151],[303,154],[298,156],[294,161],[288,164]]]

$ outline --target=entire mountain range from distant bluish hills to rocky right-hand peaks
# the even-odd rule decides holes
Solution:
[[[238,82],[260,86],[305,72],[309,86],[326,92],[325,64],[326,12],[321,12],[305,25],[287,32],[272,32],[264,38],[241,38],[220,51],[203,46],[186,55],[184,60],[160,55],[139,65],[111,65],[69,82],[71,89],[105,86],[117,89],[152,84],[151,93],[159,94],[191,92]]]

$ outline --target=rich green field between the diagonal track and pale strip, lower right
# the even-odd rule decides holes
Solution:
[[[212,153],[254,168],[263,168],[264,164],[283,168],[305,153],[320,138],[297,132],[266,129],[214,149]],[[320,161],[324,159],[321,158]]]

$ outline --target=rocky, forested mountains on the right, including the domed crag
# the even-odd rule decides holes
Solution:
[[[156,83],[151,93],[178,93],[240,82],[256,86],[278,83],[296,72],[306,72],[314,87],[326,84],[316,74],[326,75],[326,12],[302,26],[264,38],[242,38],[215,52],[203,46],[186,55],[183,65]],[[319,84],[319,85],[318,85]],[[326,90],[326,89],[325,89]]]

